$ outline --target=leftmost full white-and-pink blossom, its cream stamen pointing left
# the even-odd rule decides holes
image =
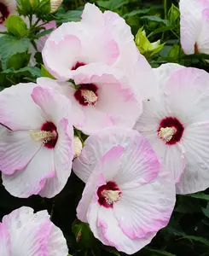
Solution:
[[[11,195],[53,197],[70,176],[74,157],[71,104],[37,84],[17,84],[0,93],[3,185]]]

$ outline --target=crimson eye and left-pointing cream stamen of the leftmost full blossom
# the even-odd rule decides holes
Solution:
[[[29,131],[33,141],[37,143],[44,143],[45,148],[55,148],[58,139],[56,126],[52,122],[46,122],[42,125],[40,131]]]

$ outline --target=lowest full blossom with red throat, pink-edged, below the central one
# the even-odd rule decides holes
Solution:
[[[73,171],[86,183],[77,217],[103,244],[136,253],[168,224],[175,185],[137,131],[111,127],[91,135]]]

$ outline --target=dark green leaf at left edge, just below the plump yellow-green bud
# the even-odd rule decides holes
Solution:
[[[0,55],[2,58],[3,70],[8,68],[8,61],[12,55],[25,53],[30,46],[29,38],[15,38],[3,36],[0,38]]]

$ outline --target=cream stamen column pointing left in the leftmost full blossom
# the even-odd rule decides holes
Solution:
[[[56,136],[55,131],[29,131],[30,137],[36,143],[49,143],[50,140],[54,139]]]

